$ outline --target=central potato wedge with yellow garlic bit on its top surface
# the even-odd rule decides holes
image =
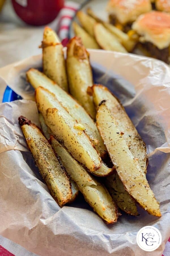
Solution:
[[[91,172],[98,170],[101,167],[100,156],[86,133],[79,129],[78,123],[58,102],[55,95],[39,87],[35,96],[38,110],[55,137],[63,141],[72,156]]]

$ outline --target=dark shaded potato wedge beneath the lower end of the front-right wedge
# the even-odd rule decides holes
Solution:
[[[139,215],[135,200],[125,190],[117,172],[106,178],[105,185],[116,205],[127,214]]]

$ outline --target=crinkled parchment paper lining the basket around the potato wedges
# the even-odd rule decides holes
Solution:
[[[79,197],[59,208],[48,193],[18,127],[25,115],[37,125],[34,92],[25,71],[41,68],[41,55],[0,69],[0,76],[26,100],[0,105],[0,234],[39,255],[161,255],[170,236],[170,69],[161,61],[130,54],[90,50],[94,82],[108,86],[124,104],[147,146],[147,179],[160,201],[162,217],[139,208],[106,225]],[[27,101],[29,100],[29,101]],[[142,251],[140,228],[157,227],[161,246]]]

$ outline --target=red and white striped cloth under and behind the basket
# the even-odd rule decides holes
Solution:
[[[57,21],[57,33],[60,37],[63,46],[68,42],[69,25],[75,12],[80,7],[80,4],[67,1],[64,8],[60,11]],[[10,241],[3,236],[0,236],[0,256],[36,256],[36,254],[27,251],[24,247]],[[161,255],[160,255],[161,256]],[[170,238],[165,245],[165,250],[162,256],[170,256]]]

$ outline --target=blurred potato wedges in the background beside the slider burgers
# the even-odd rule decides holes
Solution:
[[[137,37],[130,36],[130,33],[126,34],[109,22],[101,20],[90,8],[87,13],[78,11],[76,18],[81,26],[74,21],[73,30],[86,48],[126,53],[132,52],[137,44]]]

